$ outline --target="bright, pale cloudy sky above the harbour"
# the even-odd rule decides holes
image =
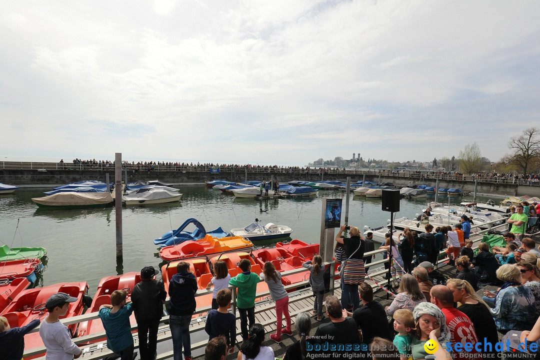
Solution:
[[[0,9],[4,161],[497,161],[539,124],[536,0]]]

